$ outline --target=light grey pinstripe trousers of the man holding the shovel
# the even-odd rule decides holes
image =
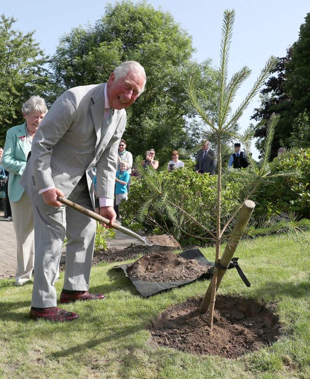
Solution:
[[[83,175],[68,199],[93,209],[86,176]],[[77,210],[45,204],[42,196],[33,203],[35,261],[31,306],[55,307],[62,244],[67,237],[63,288],[87,291],[93,260],[96,221]],[[40,233],[36,233],[40,231]]]

